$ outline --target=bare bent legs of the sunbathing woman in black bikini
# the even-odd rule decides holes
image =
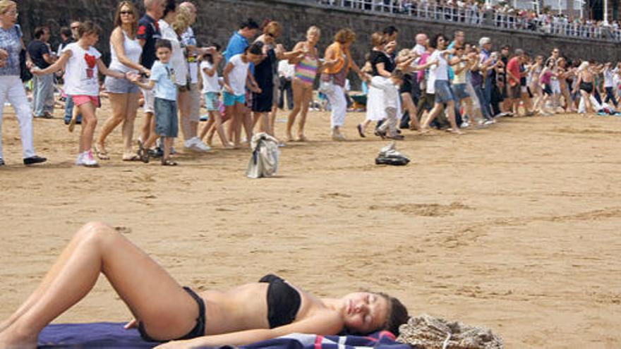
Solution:
[[[35,348],[39,332],[87,295],[100,273],[150,336],[179,338],[195,326],[195,301],[157,262],[114,228],[89,223],[5,323],[0,348]]]

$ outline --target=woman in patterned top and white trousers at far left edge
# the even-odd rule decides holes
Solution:
[[[1,128],[5,101],[11,103],[19,121],[24,164],[46,161],[44,157],[37,157],[32,145],[32,114],[20,80],[20,52],[25,46],[20,27],[16,24],[17,18],[16,2],[0,0],[0,166],[4,166]]]

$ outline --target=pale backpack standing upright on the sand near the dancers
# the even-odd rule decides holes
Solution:
[[[276,138],[267,133],[258,133],[251,141],[253,154],[248,163],[246,176],[249,178],[271,177],[278,171],[280,149]]]

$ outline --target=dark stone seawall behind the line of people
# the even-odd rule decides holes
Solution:
[[[139,1],[142,3],[142,0]],[[412,47],[414,35],[426,32],[433,35],[443,32],[452,36],[452,32],[462,29],[466,39],[476,42],[479,37],[492,37],[495,47],[510,44],[521,47],[531,54],[549,54],[552,47],[559,47],[563,54],[572,58],[595,59],[598,61],[621,60],[621,45],[579,38],[553,37],[530,32],[512,32],[509,30],[472,27],[458,23],[438,23],[419,20],[408,16],[389,13],[359,13],[347,9],[334,9],[315,4],[313,0],[195,0],[199,8],[198,23],[194,26],[199,41],[203,44],[218,42],[226,44],[231,33],[236,30],[243,18],[253,17],[258,21],[272,18],[284,23],[282,42],[287,47],[303,39],[306,28],[318,25],[323,35],[320,49],[330,44],[332,35],[342,27],[351,27],[358,34],[358,41],[352,51],[358,63],[362,63],[364,54],[370,49],[370,34],[382,30],[387,25],[399,28],[399,47]],[[91,19],[104,27],[104,35],[97,48],[104,52],[107,59],[109,52],[108,35],[112,29],[115,6],[114,0],[62,0],[62,1],[20,1],[20,23],[27,38],[37,25],[52,27],[57,42],[57,33],[61,25],[68,25],[73,18]],[[142,6],[140,6],[141,8]],[[141,9],[142,11],[142,9]]]

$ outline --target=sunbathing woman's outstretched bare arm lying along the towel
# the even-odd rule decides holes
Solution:
[[[158,345],[157,349],[181,349],[196,347],[217,347],[221,345],[246,345],[258,341],[285,336],[291,333],[319,333],[330,335],[343,329],[342,319],[338,314],[325,312],[310,319],[279,326],[274,329],[251,329],[212,336],[203,336],[188,341],[171,341]]]

